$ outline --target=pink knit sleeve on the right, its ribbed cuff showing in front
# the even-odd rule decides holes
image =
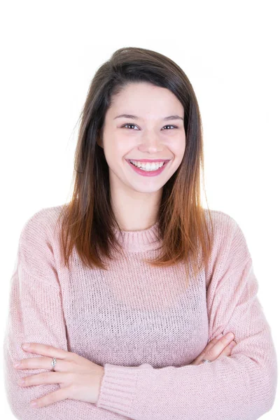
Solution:
[[[220,332],[235,334],[231,356],[181,367],[106,363],[97,407],[135,420],[254,420],[272,408],[276,351],[244,234],[230,219],[212,260],[207,311],[209,341]]]

